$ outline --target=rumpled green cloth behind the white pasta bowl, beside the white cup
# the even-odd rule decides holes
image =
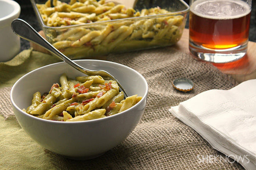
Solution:
[[[12,60],[0,62],[0,88],[12,86],[24,74],[36,68],[60,61],[58,57],[33,51],[33,48],[21,51]]]

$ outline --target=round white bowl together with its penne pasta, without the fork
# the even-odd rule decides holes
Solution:
[[[58,62],[21,77],[10,99],[20,126],[39,145],[68,159],[93,159],[120,144],[137,126],[146,107],[148,84],[125,65],[90,59],[75,62],[113,74],[130,97],[124,99],[112,80],[87,77]]]

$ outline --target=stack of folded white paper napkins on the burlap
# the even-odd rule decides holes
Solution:
[[[230,90],[205,91],[169,111],[226,158],[256,170],[256,79]]]

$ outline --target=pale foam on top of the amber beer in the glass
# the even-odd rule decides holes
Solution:
[[[244,17],[251,8],[242,0],[197,0],[190,11],[204,18],[227,20]]]

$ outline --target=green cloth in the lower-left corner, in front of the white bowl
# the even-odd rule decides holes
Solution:
[[[35,143],[20,127],[14,116],[8,120],[0,115],[0,169],[1,170],[54,170],[55,154]],[[26,155],[26,156],[24,156]],[[55,162],[54,162],[55,161]],[[28,169],[27,169],[28,170]]]

